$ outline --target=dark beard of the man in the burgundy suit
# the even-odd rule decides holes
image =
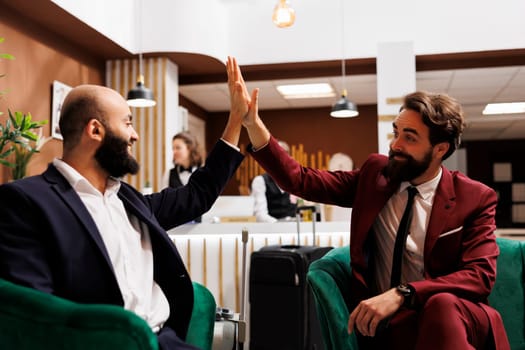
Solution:
[[[394,156],[403,157],[405,160],[396,160]],[[409,154],[403,152],[394,152],[390,150],[388,153],[388,165],[386,167],[386,176],[395,183],[403,181],[411,181],[423,174],[430,163],[432,162],[432,148],[425,153],[423,160],[415,160]]]

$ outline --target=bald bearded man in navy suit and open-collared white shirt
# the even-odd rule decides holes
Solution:
[[[103,86],[74,88],[61,112],[62,158],[42,175],[0,186],[0,278],[120,305],[146,320],[161,349],[193,349],[183,341],[193,287],[166,231],[205,213],[222,192],[243,159],[241,118],[230,113],[186,186],[144,196],[120,180],[139,170],[126,101]]]

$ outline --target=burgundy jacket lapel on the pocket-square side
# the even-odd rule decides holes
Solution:
[[[425,238],[425,260],[430,257],[432,248],[436,244],[439,235],[444,232],[448,220],[456,207],[456,192],[454,191],[452,175],[445,167],[442,167],[442,169],[443,175],[436,190]],[[427,264],[428,261],[425,261],[425,265]]]

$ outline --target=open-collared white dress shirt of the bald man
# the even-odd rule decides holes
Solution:
[[[170,315],[166,296],[153,280],[153,252],[147,226],[126,212],[117,193],[120,181],[109,178],[102,194],[62,160],[53,165],[67,179],[95,222],[124,299],[124,308],[158,331]]]

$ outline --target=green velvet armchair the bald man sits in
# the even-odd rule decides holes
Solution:
[[[193,283],[195,303],[186,341],[209,350],[215,299]],[[78,304],[0,279],[0,348],[156,350],[148,324],[115,305]]]

